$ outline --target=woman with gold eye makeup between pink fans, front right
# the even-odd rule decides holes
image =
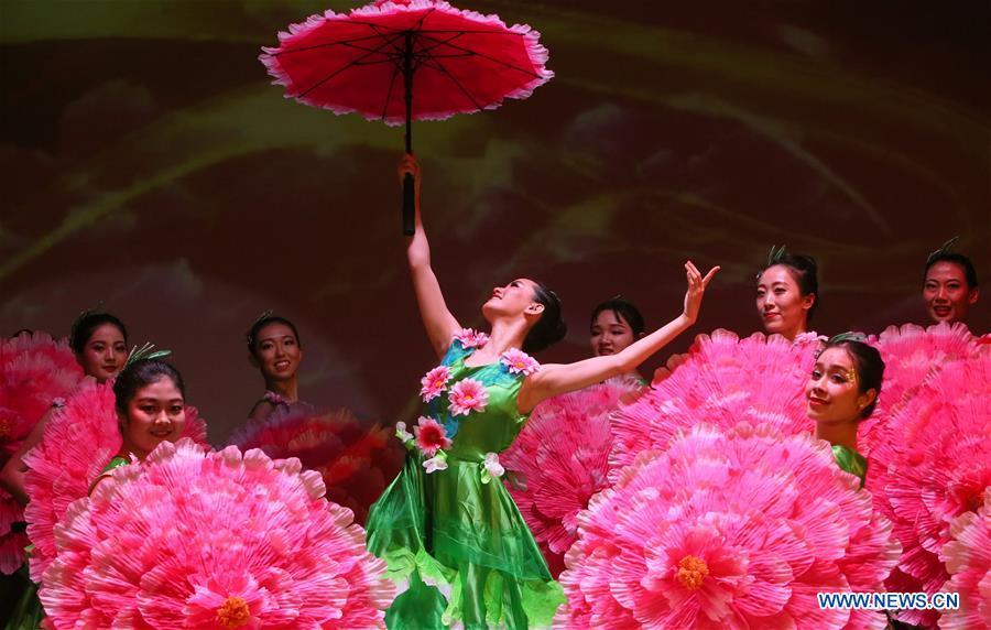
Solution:
[[[839,467],[867,477],[867,459],[857,452],[857,426],[878,404],[884,361],[876,348],[860,335],[837,335],[825,344],[805,385],[808,417],[816,437],[832,445]]]

